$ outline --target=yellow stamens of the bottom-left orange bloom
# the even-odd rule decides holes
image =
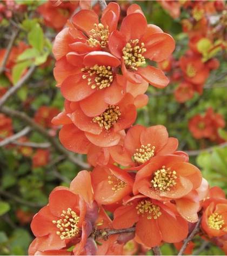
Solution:
[[[71,208],[63,210],[61,218],[52,221],[59,229],[56,234],[59,235],[62,240],[74,238],[79,233],[78,222],[79,216]]]

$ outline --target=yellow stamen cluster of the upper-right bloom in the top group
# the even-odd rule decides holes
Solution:
[[[126,43],[126,46],[122,49],[123,59],[125,66],[127,68],[137,70],[137,67],[140,67],[146,63],[143,53],[146,52],[144,48],[144,43],[139,44],[139,40],[130,40]]]

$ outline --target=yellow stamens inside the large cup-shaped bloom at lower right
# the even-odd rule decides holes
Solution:
[[[165,169],[163,165],[162,169],[157,170],[151,180],[153,188],[160,191],[170,191],[170,189],[177,184],[177,172],[171,171],[170,168]]]

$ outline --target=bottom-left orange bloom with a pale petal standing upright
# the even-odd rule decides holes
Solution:
[[[57,250],[61,253],[72,246],[76,255],[86,255],[86,244],[92,242],[87,238],[97,219],[97,210],[90,174],[81,171],[71,182],[70,189],[55,188],[50,194],[49,204],[34,216],[31,230],[36,239],[29,247],[29,255],[35,255],[37,251],[45,254]]]

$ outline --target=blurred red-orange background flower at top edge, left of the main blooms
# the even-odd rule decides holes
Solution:
[[[58,5],[54,5],[52,2],[52,0],[49,0],[40,5],[37,11],[43,16],[45,25],[60,30],[78,7],[78,1],[75,1],[76,4],[61,2]]]

